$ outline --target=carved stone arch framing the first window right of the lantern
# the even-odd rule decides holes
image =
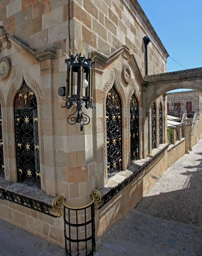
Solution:
[[[108,82],[105,84],[103,90],[102,90],[102,99],[103,99],[103,117],[104,117],[104,173],[105,177],[107,177],[107,133],[106,133],[106,99],[107,94],[112,86],[115,86],[117,92],[119,93],[121,104],[122,104],[122,168],[125,170],[127,168],[127,155],[128,155],[128,140],[127,140],[127,102],[125,93],[123,91],[123,88],[121,86],[120,80],[119,80],[119,73],[115,67],[111,69],[110,76]]]

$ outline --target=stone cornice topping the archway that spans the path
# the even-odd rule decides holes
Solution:
[[[144,76],[149,84],[170,83],[202,79],[202,67]]]

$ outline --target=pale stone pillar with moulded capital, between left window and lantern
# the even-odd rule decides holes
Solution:
[[[43,113],[43,143],[44,163],[42,190],[47,195],[57,195],[57,177],[55,160],[55,129],[54,129],[54,90],[53,90],[53,59],[56,50],[48,47],[34,52],[34,57],[40,62],[41,89],[42,89],[42,113]],[[56,138],[57,140],[57,138]],[[57,142],[57,141],[56,141]],[[48,145],[48,146],[47,146]],[[40,160],[41,161],[41,160]]]

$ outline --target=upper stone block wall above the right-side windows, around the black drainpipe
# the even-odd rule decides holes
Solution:
[[[131,2],[74,0],[74,51],[78,52],[80,39],[86,55],[92,49],[110,55],[122,45],[126,45],[134,53],[144,76],[143,37],[148,35],[151,37],[151,43],[148,45],[148,73],[166,72],[166,54],[163,53],[159,41],[156,41],[154,34],[150,32],[134,8],[135,4]],[[144,13],[143,10],[142,13]]]

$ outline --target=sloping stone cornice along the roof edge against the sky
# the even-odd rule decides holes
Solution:
[[[154,36],[156,42],[159,44],[159,46],[162,49],[162,52],[165,54],[166,58],[169,57],[169,54],[167,50],[165,49],[164,45],[162,44],[162,41],[160,40],[159,36],[157,35],[156,31],[154,30],[154,27],[151,25],[151,22],[149,21],[148,17],[146,16],[145,12],[142,10],[142,7],[138,3],[137,0],[129,0],[132,6],[137,10],[139,16],[144,21],[145,25],[148,27],[151,34]]]

